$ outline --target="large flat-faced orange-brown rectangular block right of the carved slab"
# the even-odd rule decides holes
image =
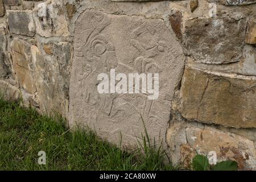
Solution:
[[[256,127],[256,78],[186,68],[181,83],[184,118],[229,127]]]

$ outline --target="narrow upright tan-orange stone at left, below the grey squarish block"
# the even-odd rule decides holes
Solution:
[[[18,38],[14,38],[11,42],[11,53],[13,57],[13,67],[16,79],[20,87],[27,90],[27,92],[34,94],[36,86],[34,78],[31,75],[31,44],[24,42]]]

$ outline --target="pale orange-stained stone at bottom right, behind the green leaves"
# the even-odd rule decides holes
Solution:
[[[208,155],[209,159],[216,157],[216,162],[224,160],[235,160],[238,163],[238,169],[255,170],[256,169],[256,151],[254,142],[232,133],[224,133],[214,127],[186,128],[187,144],[181,146],[181,161],[187,160],[188,165],[191,156],[199,154]],[[210,156],[212,155],[212,156]]]

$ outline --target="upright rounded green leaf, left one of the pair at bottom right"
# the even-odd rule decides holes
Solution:
[[[192,160],[192,168],[195,171],[209,171],[209,160],[204,155],[196,155]]]

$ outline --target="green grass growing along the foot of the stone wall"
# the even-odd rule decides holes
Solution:
[[[70,131],[62,118],[49,118],[18,102],[0,99],[0,170],[171,170],[164,152],[146,133],[132,153],[92,131]],[[38,152],[46,152],[46,165]]]

